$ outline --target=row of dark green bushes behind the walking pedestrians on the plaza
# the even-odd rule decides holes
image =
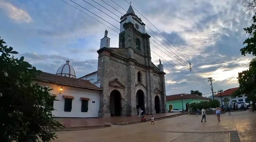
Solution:
[[[219,100],[210,100],[210,101],[201,101],[199,103],[191,103],[190,108],[193,111],[202,110],[202,109],[209,109],[209,108],[216,108],[220,107],[220,101]]]

